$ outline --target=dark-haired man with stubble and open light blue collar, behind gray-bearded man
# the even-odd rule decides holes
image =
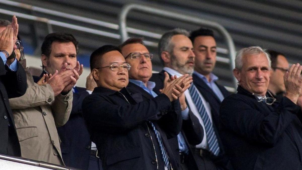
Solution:
[[[213,122],[218,127],[221,101],[230,93],[217,83],[218,77],[212,73],[216,64],[214,32],[207,28],[200,28],[192,31],[189,38],[193,43],[195,54],[193,82],[210,104]]]

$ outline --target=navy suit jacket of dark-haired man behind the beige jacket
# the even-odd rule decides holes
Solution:
[[[34,77],[34,81],[40,80],[43,74],[46,74],[44,70],[40,77]],[[69,119],[64,126],[58,127],[57,131],[65,165],[85,170],[89,165],[91,139],[82,116],[82,102],[89,93],[83,87],[76,87],[76,90],[78,92],[73,93]]]

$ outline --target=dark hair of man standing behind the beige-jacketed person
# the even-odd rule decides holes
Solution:
[[[48,34],[42,43],[41,46],[41,52],[45,56],[49,57],[51,53],[51,45],[53,42],[60,42],[60,43],[68,43],[72,42],[76,47],[76,53],[78,54],[78,41],[76,41],[76,38],[72,34],[62,33],[62,32],[55,32]]]

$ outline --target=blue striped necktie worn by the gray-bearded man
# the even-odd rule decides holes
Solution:
[[[218,145],[218,141],[217,141],[217,136],[213,129],[213,124],[209,118],[209,115],[207,114],[204,104],[202,103],[201,97],[199,96],[199,94],[197,92],[197,88],[195,87],[195,85],[193,83],[191,84],[189,91],[190,91],[192,100],[194,101],[195,106],[204,123],[204,128],[205,128],[205,132],[207,135],[207,141],[208,141],[208,145],[209,145],[209,150],[214,155],[218,155],[220,149],[219,149],[219,145]]]

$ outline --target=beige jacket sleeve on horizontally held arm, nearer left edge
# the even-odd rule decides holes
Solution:
[[[9,99],[9,103],[11,109],[24,109],[52,104],[54,99],[53,89],[50,84],[39,86],[34,83],[33,86],[27,88],[23,96]]]

